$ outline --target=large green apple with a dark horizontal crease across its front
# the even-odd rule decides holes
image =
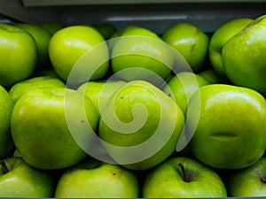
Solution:
[[[220,169],[240,169],[262,157],[266,103],[261,94],[250,88],[210,84],[193,94],[189,106],[200,109],[189,144],[201,162]],[[193,117],[187,121],[193,122]]]

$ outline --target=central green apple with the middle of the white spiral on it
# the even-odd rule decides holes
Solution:
[[[147,81],[133,80],[106,103],[98,134],[116,163],[146,170],[175,151],[183,129],[184,114],[171,98]]]

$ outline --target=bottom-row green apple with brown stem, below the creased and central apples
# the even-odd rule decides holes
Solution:
[[[187,181],[181,167],[186,171]],[[144,198],[227,197],[223,180],[207,165],[192,157],[171,157],[148,172]]]

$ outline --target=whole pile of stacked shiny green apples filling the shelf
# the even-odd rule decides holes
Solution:
[[[0,23],[0,197],[266,196],[266,15]]]

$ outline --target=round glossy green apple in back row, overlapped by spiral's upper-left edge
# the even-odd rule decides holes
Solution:
[[[109,66],[106,41],[93,27],[62,28],[53,34],[49,54],[51,64],[59,77],[66,81],[70,73],[74,73],[75,80],[70,83],[75,85],[102,78]]]

